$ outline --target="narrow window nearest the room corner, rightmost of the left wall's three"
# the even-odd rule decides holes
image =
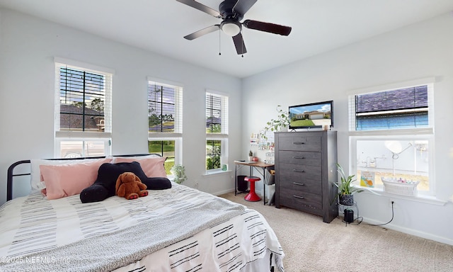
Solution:
[[[228,96],[206,93],[206,170],[228,162]]]

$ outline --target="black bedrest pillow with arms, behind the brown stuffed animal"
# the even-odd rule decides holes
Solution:
[[[115,184],[118,176],[125,172],[132,172],[142,183],[146,184],[148,190],[163,190],[171,188],[171,182],[167,178],[149,178],[138,162],[120,162],[117,164],[102,164],[98,170],[98,178],[88,188],[80,193],[82,203],[98,202],[110,196],[115,196]]]

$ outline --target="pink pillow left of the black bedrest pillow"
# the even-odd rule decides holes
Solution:
[[[100,159],[96,162],[81,164],[40,165],[47,199],[58,199],[79,194],[91,186],[98,177],[98,169],[112,159]]]

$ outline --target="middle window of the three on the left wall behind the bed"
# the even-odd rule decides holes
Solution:
[[[183,88],[148,81],[148,150],[167,157],[170,175],[174,164],[182,164]]]

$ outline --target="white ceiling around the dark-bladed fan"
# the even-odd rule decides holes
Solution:
[[[222,0],[198,1],[218,11]],[[239,78],[453,11],[452,0],[258,0],[243,20],[292,32],[243,28],[248,52],[241,57],[221,31],[185,40],[221,20],[176,0],[0,0],[0,6]]]

